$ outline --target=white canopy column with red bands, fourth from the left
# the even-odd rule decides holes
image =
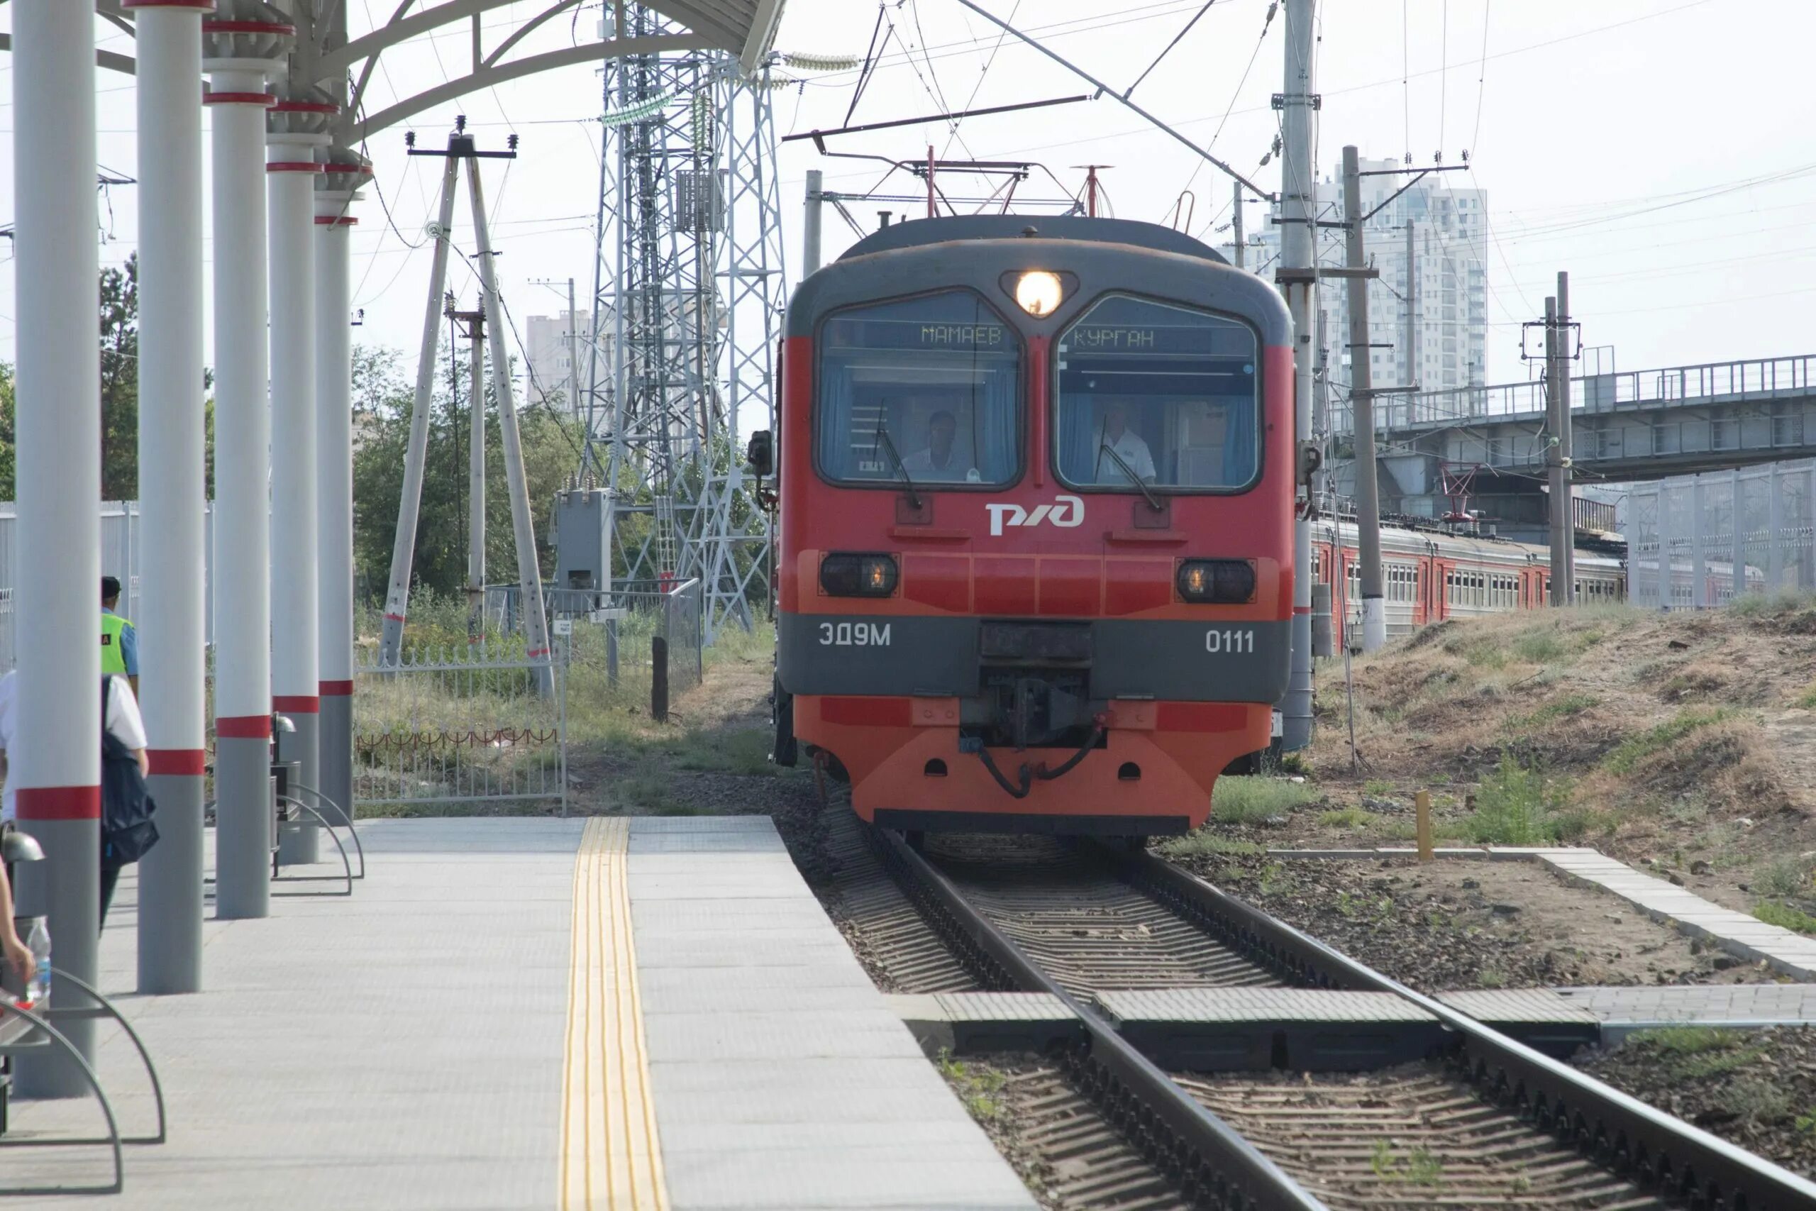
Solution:
[[[265,202],[271,247],[271,710],[291,719],[278,732],[278,761],[296,781],[321,786],[321,659],[316,541],[316,156],[332,143],[340,105],[296,85],[267,114]],[[289,821],[278,861],[318,861],[321,828]]]

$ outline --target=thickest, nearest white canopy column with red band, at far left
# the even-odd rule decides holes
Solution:
[[[56,964],[87,982],[98,950],[102,813],[94,9],[18,0],[13,38],[20,708],[7,783],[20,824],[45,853],[22,864],[18,911],[49,917]],[[58,1008],[87,1004],[56,997]],[[94,1020],[56,1024],[93,1062]],[[80,1066],[60,1055],[20,1057],[16,1078],[25,1097],[87,1091]]]

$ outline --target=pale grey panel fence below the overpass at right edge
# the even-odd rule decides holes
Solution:
[[[1634,605],[1694,610],[1816,588],[1816,459],[1634,485],[1627,510]]]

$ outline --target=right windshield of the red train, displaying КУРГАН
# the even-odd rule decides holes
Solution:
[[[1081,490],[1239,492],[1260,474],[1248,325],[1110,296],[1059,340],[1055,458]]]

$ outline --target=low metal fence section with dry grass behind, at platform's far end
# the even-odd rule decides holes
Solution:
[[[548,692],[545,692],[548,686]],[[543,802],[567,813],[567,677],[512,641],[361,650],[354,668],[354,802]]]

